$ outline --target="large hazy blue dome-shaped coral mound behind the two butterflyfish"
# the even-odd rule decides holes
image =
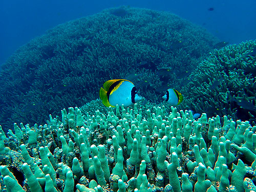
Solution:
[[[159,87],[195,68],[216,42],[177,15],[148,9],[108,9],[59,25],[3,65],[0,123],[42,123],[49,113],[98,98],[113,78],[132,80],[155,101]]]

